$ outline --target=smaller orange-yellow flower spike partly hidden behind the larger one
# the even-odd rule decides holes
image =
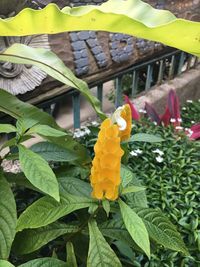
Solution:
[[[132,113],[128,104],[123,106],[120,116],[126,121],[126,128],[119,132],[119,136],[121,141],[126,141],[130,138],[132,127]]]

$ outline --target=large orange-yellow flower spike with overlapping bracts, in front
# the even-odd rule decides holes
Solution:
[[[124,154],[120,147],[119,135],[119,127],[113,124],[111,119],[102,122],[94,146],[95,157],[90,176],[94,198],[115,200],[118,197],[121,182],[120,163]]]

